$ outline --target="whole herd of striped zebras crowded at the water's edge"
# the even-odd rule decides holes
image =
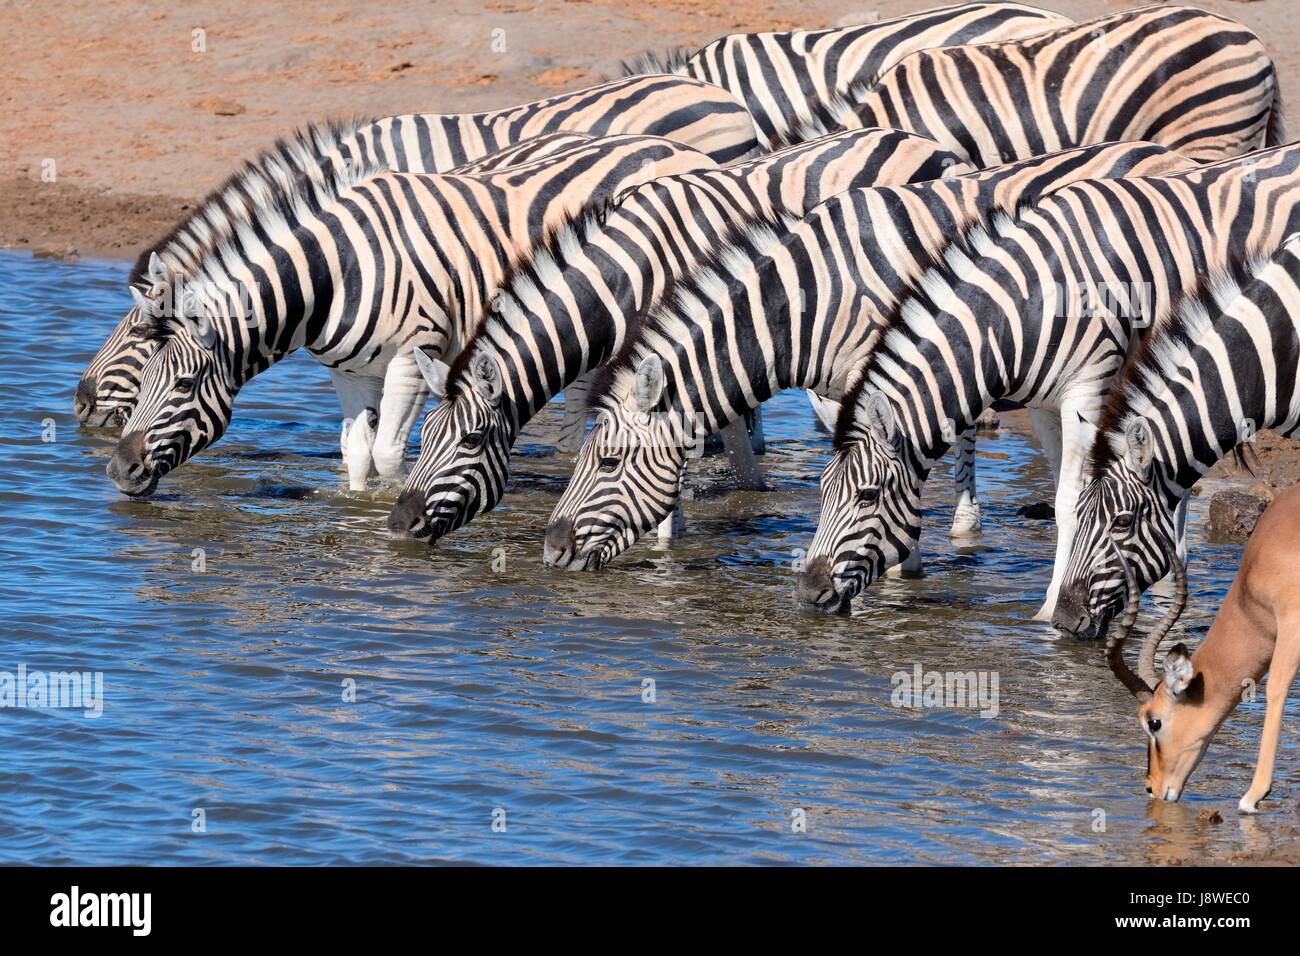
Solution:
[[[680,527],[703,437],[760,484],[758,408],[803,389],[833,440],[796,593],[842,611],[916,561],[949,449],[952,532],[978,533],[975,425],[1023,406],[1057,489],[1039,618],[1080,637],[1118,619],[1112,666],[1149,701],[1190,489],[1244,429],[1300,428],[1283,140],[1261,40],[1164,4],[733,35],[512,109],[315,125],[140,256],[74,407],[122,427],[108,475],[148,496],[306,347],[352,488],[403,475],[424,415],[389,531],[433,542],[500,502],[563,393],[577,455],[543,558],[595,570]],[[1139,679],[1135,593],[1170,576]],[[1270,710],[1297,665],[1274,659]]]

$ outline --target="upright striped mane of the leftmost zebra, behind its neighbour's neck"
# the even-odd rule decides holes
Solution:
[[[148,263],[155,252],[170,271],[194,268],[204,252],[256,215],[259,204],[268,196],[302,191],[309,181],[333,178],[337,176],[333,164],[324,160],[337,152],[343,139],[372,122],[367,117],[329,120],[278,138],[269,148],[246,160],[162,238],[140,252],[131,267],[129,282],[150,285]]]

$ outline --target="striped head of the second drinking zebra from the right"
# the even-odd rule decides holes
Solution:
[[[924,472],[889,399],[872,389],[854,399],[852,424],[822,473],[822,518],[796,588],[801,604],[845,613],[920,537]]]

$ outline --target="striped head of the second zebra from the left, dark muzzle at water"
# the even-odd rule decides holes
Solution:
[[[209,321],[169,323],[108,463],[118,490],[148,497],[159,479],[225,434],[238,388]]]

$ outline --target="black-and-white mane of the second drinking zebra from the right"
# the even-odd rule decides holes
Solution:
[[[1019,209],[1015,213],[996,209],[978,215],[966,222],[956,238],[926,250],[928,263],[913,281],[898,290],[893,307],[881,315],[880,332],[867,347],[858,365],[858,375],[849,380],[840,399],[833,447],[841,447],[858,434],[854,408],[866,390],[867,369],[875,364],[876,356],[893,349],[902,329],[932,321],[935,315],[942,312],[946,306],[941,304],[941,299],[950,298],[952,290],[962,282],[971,263],[983,258],[1018,221]]]

